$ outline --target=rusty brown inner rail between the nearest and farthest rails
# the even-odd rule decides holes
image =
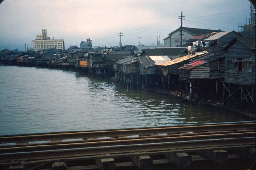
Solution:
[[[255,132],[239,132],[239,133],[220,133],[220,134],[191,134],[186,136],[158,136],[157,138],[130,138],[123,139],[118,138],[116,140],[103,140],[103,141],[83,141],[79,143],[65,143],[55,144],[48,143],[47,145],[10,145],[9,147],[0,148],[0,153],[17,153],[17,152],[32,152],[32,151],[44,151],[44,150],[56,150],[56,149],[74,149],[84,147],[99,147],[99,146],[113,146],[113,145],[134,145],[134,144],[146,144],[146,143],[161,143],[161,142],[175,142],[175,141],[189,141],[189,140],[208,140],[208,139],[221,139],[221,138],[245,138],[255,137]]]

